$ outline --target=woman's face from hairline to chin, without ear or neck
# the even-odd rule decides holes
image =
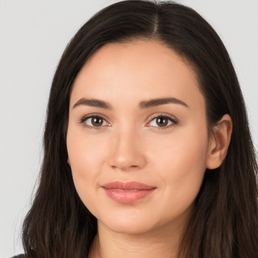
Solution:
[[[209,149],[195,73],[158,41],[104,45],[73,85],[67,148],[78,194],[102,225],[184,225]]]

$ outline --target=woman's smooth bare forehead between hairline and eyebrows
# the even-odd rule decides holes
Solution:
[[[73,85],[71,104],[82,97],[124,105],[126,100],[133,104],[168,96],[190,105],[204,102],[195,72],[175,51],[154,40],[108,43],[82,67]]]

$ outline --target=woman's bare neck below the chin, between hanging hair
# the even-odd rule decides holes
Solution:
[[[176,258],[182,226],[163,225],[145,233],[117,233],[98,221],[89,258]]]

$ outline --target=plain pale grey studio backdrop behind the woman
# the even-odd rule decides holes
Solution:
[[[111,0],[0,0],[0,258],[22,253],[22,220],[43,158],[51,80],[77,30]],[[258,150],[258,1],[177,1],[215,28],[234,63]]]

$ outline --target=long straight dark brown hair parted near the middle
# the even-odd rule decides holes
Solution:
[[[228,52],[192,9],[172,2],[122,1],[93,16],[73,37],[49,96],[40,183],[23,224],[28,258],[87,257],[96,218],[81,202],[67,164],[66,133],[73,82],[91,54],[108,42],[156,39],[195,69],[209,131],[224,114],[233,121],[227,156],[207,169],[179,256],[258,257],[257,163],[245,104]]]

